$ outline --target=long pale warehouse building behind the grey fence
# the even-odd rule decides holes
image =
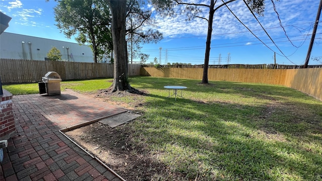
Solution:
[[[93,51],[88,45],[7,32],[0,35],[0,58],[47,60],[52,47],[60,51],[61,59],[65,61],[94,62]]]

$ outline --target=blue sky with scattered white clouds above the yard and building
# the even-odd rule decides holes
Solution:
[[[191,1],[205,4],[209,2]],[[270,0],[266,1],[264,16],[258,17],[258,20],[277,46],[262,30],[244,2],[237,0],[228,4],[228,7],[266,45],[238,22],[226,7],[221,7],[214,15],[209,64],[226,64],[228,53],[230,64],[269,64],[274,63],[274,52],[276,52],[278,64],[304,64],[319,0],[280,0],[278,2],[274,0],[274,4],[281,24],[291,41],[285,36]],[[55,1],[46,3],[45,0],[0,0],[0,11],[12,17],[6,32],[75,42],[74,38],[65,38],[54,25],[56,23],[53,11],[55,5]],[[205,9],[199,16],[208,18],[207,13]],[[162,64],[166,62],[204,63],[207,35],[205,20],[196,18],[187,22],[182,15],[165,18],[156,13],[154,18],[157,22],[154,28],[164,34],[164,39],[156,44],[142,45],[142,52],[150,54],[147,63],[152,62],[154,57],[159,60],[160,54]],[[320,23],[311,57],[322,57],[321,27]],[[161,51],[160,47],[162,47]],[[310,60],[309,64],[320,64],[320,62]]]

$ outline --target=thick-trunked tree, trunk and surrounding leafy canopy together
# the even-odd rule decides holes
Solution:
[[[45,0],[49,1],[49,0]],[[60,0],[55,7],[57,27],[68,37],[78,34],[78,43],[91,43],[94,61],[97,56],[114,50],[114,81],[112,91],[135,90],[128,83],[127,41],[131,41],[131,58],[139,56],[146,61],[148,55],[139,52],[140,42],[157,42],[162,34],[151,28],[152,11],[142,9],[144,0],[104,1],[104,0]],[[130,22],[130,23],[129,23]],[[129,25],[129,26],[126,26]],[[127,39],[126,39],[127,37]],[[133,53],[134,49],[136,50]],[[134,91],[133,91],[134,90]]]

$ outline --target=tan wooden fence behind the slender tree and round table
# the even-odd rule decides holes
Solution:
[[[203,68],[142,67],[141,75],[202,79]],[[322,101],[322,68],[240,69],[209,68],[208,80],[256,82],[285,85]]]

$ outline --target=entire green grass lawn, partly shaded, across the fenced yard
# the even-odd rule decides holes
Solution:
[[[111,79],[61,82],[95,93]],[[142,103],[128,124],[132,146],[142,147],[170,171],[194,180],[322,180],[322,102],[285,86],[131,77],[148,92],[112,97]],[[167,98],[165,85],[183,85],[185,99]],[[38,84],[4,85],[13,93],[38,93]],[[165,178],[166,179],[166,178]],[[170,178],[168,178],[170,179]]]

